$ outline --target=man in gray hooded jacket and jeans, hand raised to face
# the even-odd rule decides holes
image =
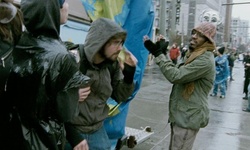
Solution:
[[[80,114],[71,122],[93,150],[110,150],[111,147],[103,126],[108,117],[106,102],[109,97],[119,103],[126,101],[134,90],[137,59],[128,50],[123,50],[125,38],[126,32],[118,24],[99,18],[91,24],[80,52],[80,70],[91,78],[92,84],[90,89],[81,91]],[[118,57],[121,51],[124,57]]]

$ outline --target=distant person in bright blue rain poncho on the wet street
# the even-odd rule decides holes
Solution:
[[[220,89],[220,98],[225,98],[227,89],[227,78],[229,76],[229,66],[227,55],[224,54],[225,47],[221,47],[217,51],[217,56],[215,57],[215,80],[213,93],[210,96],[217,96],[218,89]]]

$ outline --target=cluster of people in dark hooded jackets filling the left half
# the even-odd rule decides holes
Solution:
[[[127,33],[99,18],[77,62],[59,36],[68,7],[64,0],[22,0],[20,9],[0,1],[3,149],[111,148],[106,101],[132,94],[137,59],[129,50],[118,58]]]

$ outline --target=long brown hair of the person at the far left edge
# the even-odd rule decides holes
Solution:
[[[22,33],[23,14],[17,8],[16,16],[7,24],[0,23],[1,40],[16,44]]]

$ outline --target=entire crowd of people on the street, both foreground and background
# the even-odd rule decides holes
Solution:
[[[126,101],[133,93],[138,60],[123,44],[127,33],[98,18],[83,44],[63,42],[60,25],[68,18],[65,0],[0,0],[0,141],[3,149],[110,150],[103,126],[107,100]],[[32,12],[31,12],[32,10]],[[226,97],[234,81],[236,50],[216,48],[216,26],[193,28],[189,47],[159,35],[145,35],[145,50],[173,84],[169,97],[169,149],[191,150],[209,122],[208,95]],[[77,56],[71,54],[77,50]],[[118,57],[123,52],[124,57]],[[180,61],[181,60],[181,61]],[[244,59],[245,99],[249,100],[250,52]],[[11,144],[6,144],[10,143]]]

